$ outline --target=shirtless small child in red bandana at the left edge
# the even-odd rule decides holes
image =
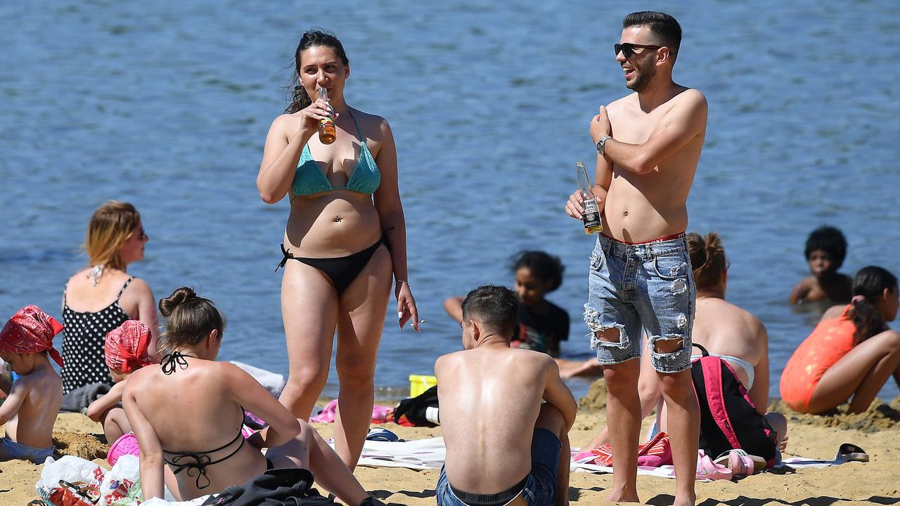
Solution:
[[[0,405],[0,425],[6,434],[0,444],[0,461],[31,460],[43,464],[53,456],[53,423],[62,404],[62,380],[47,358],[62,366],[53,349],[53,336],[62,325],[38,306],[15,313],[0,331],[0,358],[20,375],[14,384],[0,378],[7,397]]]

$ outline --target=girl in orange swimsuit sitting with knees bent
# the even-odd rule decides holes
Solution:
[[[887,328],[897,315],[897,278],[881,267],[863,267],[853,298],[822,315],[781,374],[781,398],[792,410],[821,413],[850,402],[869,409],[891,375],[900,385],[900,334]]]

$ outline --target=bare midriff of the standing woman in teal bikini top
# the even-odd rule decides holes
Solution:
[[[284,248],[290,248],[294,257],[346,257],[372,246],[381,236],[381,220],[371,195],[331,190],[293,198]]]

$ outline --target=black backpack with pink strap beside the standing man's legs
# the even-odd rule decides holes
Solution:
[[[710,458],[743,449],[766,459],[767,467],[775,465],[775,431],[769,421],[756,411],[731,366],[711,357],[706,348],[694,346],[703,352],[690,366],[700,404],[700,449]]]

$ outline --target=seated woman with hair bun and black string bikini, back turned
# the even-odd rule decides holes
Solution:
[[[181,501],[243,485],[267,469],[303,467],[347,504],[367,498],[338,455],[252,376],[216,362],[225,320],[208,299],[178,288],[159,301],[166,356],[130,375],[122,404],[140,445],[144,497],[163,496],[163,467],[175,473]],[[245,439],[244,410],[268,427]],[[268,448],[266,456],[261,448]]]

